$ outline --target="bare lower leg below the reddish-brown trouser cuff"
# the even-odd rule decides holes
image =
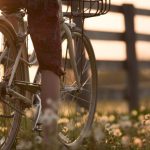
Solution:
[[[41,70],[42,86],[42,122],[44,123],[44,143],[57,149],[57,109],[60,95],[60,79],[59,76],[50,70]],[[48,117],[48,118],[47,118]],[[51,118],[51,119],[50,119]],[[48,120],[49,121],[48,121]]]

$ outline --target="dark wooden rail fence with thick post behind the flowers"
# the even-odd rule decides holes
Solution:
[[[150,96],[150,87],[145,89],[139,89],[139,69],[150,67],[150,61],[138,61],[136,58],[136,41],[150,41],[150,35],[137,34],[134,30],[134,16],[143,15],[150,17],[150,10],[136,9],[131,4],[124,4],[122,6],[111,6],[111,12],[121,13],[124,16],[125,32],[103,32],[103,31],[87,31],[88,36],[91,39],[107,40],[107,41],[124,41],[126,43],[126,55],[125,61],[97,61],[98,69],[125,69],[128,77],[127,87],[121,91],[114,91],[114,89],[101,89],[98,91],[100,97],[112,97],[113,96],[125,98],[129,102],[130,109],[136,109],[139,106],[139,98],[148,95]]]

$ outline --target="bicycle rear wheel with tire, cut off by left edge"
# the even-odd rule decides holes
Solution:
[[[18,52],[14,33],[12,28],[0,23],[0,149],[2,150],[11,149],[21,122],[21,103],[5,91]],[[24,69],[24,65],[19,63],[15,74],[16,80],[25,79]]]

